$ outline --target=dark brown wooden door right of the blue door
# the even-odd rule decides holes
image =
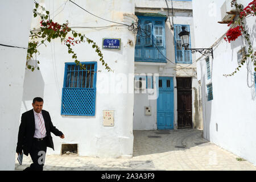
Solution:
[[[192,78],[177,77],[177,128],[192,129]]]

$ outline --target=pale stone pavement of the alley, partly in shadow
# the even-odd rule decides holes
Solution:
[[[256,170],[250,162],[202,138],[202,130],[134,131],[134,153],[130,159],[89,158],[74,155],[47,155],[44,170]],[[17,158],[17,156],[16,156]],[[30,166],[23,156],[20,166]]]

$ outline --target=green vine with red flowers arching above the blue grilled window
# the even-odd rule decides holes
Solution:
[[[42,11],[42,13],[39,13]],[[34,18],[39,16],[41,18],[40,21],[40,28],[30,31],[30,38],[31,41],[28,43],[28,50],[27,50],[27,60],[34,58],[36,60],[36,55],[40,54],[38,51],[38,47],[44,44],[46,46],[46,42],[51,42],[53,39],[59,38],[61,43],[67,46],[68,53],[72,55],[72,59],[75,60],[76,65],[79,65],[81,69],[86,69],[85,65],[82,65],[79,60],[77,60],[77,54],[73,51],[72,47],[76,44],[80,43],[88,43],[92,44],[92,48],[95,49],[95,52],[98,53],[100,57],[100,61],[102,65],[105,65],[105,69],[109,71],[113,70],[108,66],[105,62],[104,57],[102,55],[100,47],[92,40],[87,38],[85,35],[72,30],[68,27],[68,21],[63,24],[59,24],[57,22],[53,22],[53,20],[49,16],[49,11],[47,11],[43,6],[40,6],[39,3],[35,2],[35,9],[33,10]],[[36,60],[36,65],[27,65],[28,69],[34,71],[35,69],[39,70],[39,60]]]

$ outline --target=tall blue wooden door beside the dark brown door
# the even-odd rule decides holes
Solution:
[[[158,130],[174,129],[174,79],[158,78]]]

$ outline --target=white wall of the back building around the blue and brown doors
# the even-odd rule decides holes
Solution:
[[[171,9],[171,1],[167,1]],[[136,11],[167,14],[167,10],[160,10],[162,7],[167,8],[165,1],[156,0],[135,0]],[[174,9],[181,9],[179,13],[174,11],[174,24],[189,24],[191,31],[191,47],[195,47],[195,38],[193,30],[192,2],[191,1],[173,1]],[[188,11],[190,10],[190,11]],[[171,10],[169,11],[171,18]],[[172,18],[171,18],[172,23]],[[196,56],[192,54],[192,65],[188,64],[173,64],[175,63],[175,46],[174,46],[174,30],[170,28],[170,22],[167,19],[165,23],[166,29],[166,57],[167,63],[141,63],[135,62],[135,73],[157,73],[159,76],[174,77],[174,86],[176,86],[176,77],[192,77],[192,120],[193,127],[199,127],[199,85],[196,76]],[[181,67],[180,67],[180,66]],[[159,71],[162,67],[163,71]],[[184,68],[187,67],[187,68]],[[195,89],[193,89],[195,88]],[[196,92],[196,94],[195,94]],[[195,98],[197,96],[197,99]],[[134,96],[134,130],[156,130],[157,129],[157,100],[148,100],[148,94],[135,94]],[[144,115],[144,106],[152,106],[152,115]],[[197,110],[197,112],[196,112]],[[197,115],[197,116],[196,116]],[[174,129],[177,129],[177,89],[174,89]]]

